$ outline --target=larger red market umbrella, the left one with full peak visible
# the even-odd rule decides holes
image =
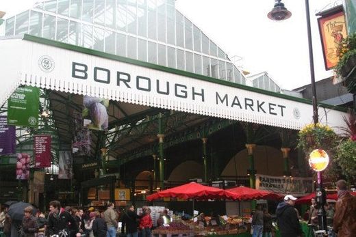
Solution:
[[[153,201],[162,197],[178,197],[181,199],[236,199],[234,193],[211,186],[197,184],[196,182],[190,182],[189,184],[183,184],[172,189],[153,193],[146,198],[149,201]]]

